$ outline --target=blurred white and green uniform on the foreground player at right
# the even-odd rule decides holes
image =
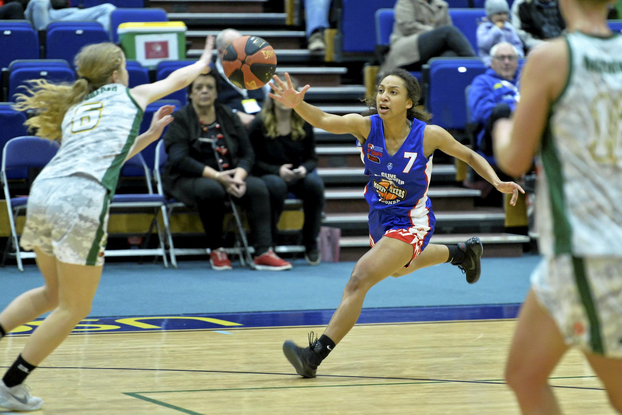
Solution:
[[[533,289],[569,344],[622,357],[622,36],[566,35],[539,157]]]

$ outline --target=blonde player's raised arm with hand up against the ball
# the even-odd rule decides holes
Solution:
[[[201,58],[197,60],[197,62],[187,67],[179,68],[161,81],[146,83],[132,88],[130,91],[132,97],[134,97],[134,100],[136,100],[138,105],[144,110],[147,105],[152,102],[160,100],[170,93],[179,91],[190,85],[202,73],[210,72],[211,51],[213,47],[214,37],[208,36],[207,40],[205,40],[203,55],[201,55]]]

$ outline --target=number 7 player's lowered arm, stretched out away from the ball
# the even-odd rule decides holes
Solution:
[[[512,199],[510,204],[514,206],[516,199],[518,198],[518,192],[524,193],[518,184],[514,182],[502,182],[499,176],[494,172],[494,169],[484,157],[481,157],[475,151],[463,146],[451,134],[447,133],[445,129],[439,126],[429,125],[425,127],[424,131],[424,148],[439,149],[440,151],[448,154],[449,156],[456,157],[462,160],[469,166],[473,167],[473,170],[477,172],[486,181],[490,182],[495,189],[501,193],[511,193]]]

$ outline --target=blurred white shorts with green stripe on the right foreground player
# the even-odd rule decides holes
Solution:
[[[568,345],[622,358],[622,258],[544,258],[531,282]]]

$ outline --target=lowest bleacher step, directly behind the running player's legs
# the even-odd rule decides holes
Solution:
[[[430,243],[454,245],[475,235],[480,238],[484,245],[482,256],[485,258],[522,256],[522,244],[529,242],[528,236],[512,233],[464,233],[435,234],[430,238]],[[341,247],[341,261],[358,261],[369,250],[369,236],[342,236],[339,245]]]

